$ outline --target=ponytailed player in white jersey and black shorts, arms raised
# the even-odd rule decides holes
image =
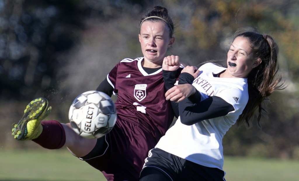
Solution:
[[[231,44],[227,68],[212,63],[198,70],[185,67],[179,85],[165,94],[179,102],[179,119],[149,151],[140,180],[225,180],[223,136],[236,122],[249,124],[263,100],[283,88],[281,76],[275,78],[277,53],[269,35],[243,32]],[[165,81],[170,80],[169,67],[178,62],[164,58]]]

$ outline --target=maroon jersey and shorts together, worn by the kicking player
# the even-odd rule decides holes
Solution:
[[[117,121],[105,136],[107,147],[82,158],[102,171],[109,181],[138,180],[148,151],[155,147],[173,121],[170,101],[165,99],[162,68],[145,71],[143,57],[123,59],[108,74],[107,82],[118,96]],[[97,90],[109,92],[103,81]],[[103,86],[103,87],[102,87]],[[102,140],[103,141],[103,140]],[[103,149],[104,147],[101,146]]]

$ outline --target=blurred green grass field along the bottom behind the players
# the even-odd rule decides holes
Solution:
[[[108,164],[108,163],[107,163]],[[105,181],[103,175],[67,150],[0,150],[0,181]],[[225,157],[228,181],[297,181],[298,161]]]

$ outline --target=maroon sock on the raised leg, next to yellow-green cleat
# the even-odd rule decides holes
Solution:
[[[42,133],[32,141],[47,149],[59,149],[65,144],[65,131],[56,120],[42,121]]]

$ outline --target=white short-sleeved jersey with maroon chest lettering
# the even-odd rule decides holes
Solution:
[[[236,123],[248,102],[247,79],[213,76],[225,69],[212,63],[204,64],[199,68],[200,75],[192,85],[199,90],[201,101],[209,96],[218,96],[231,104],[234,111],[191,126],[182,124],[179,117],[166,135],[160,139],[157,148],[199,165],[222,170],[222,138]]]

